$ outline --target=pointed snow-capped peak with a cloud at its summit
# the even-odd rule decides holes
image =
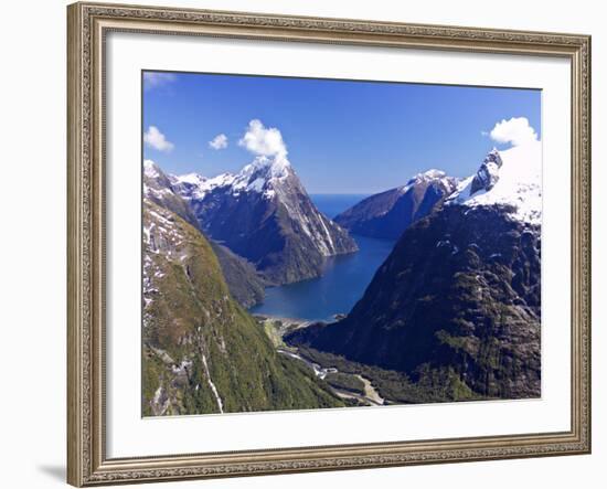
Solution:
[[[273,284],[317,277],[326,257],[356,251],[348,232],[316,209],[286,158],[258,156],[235,174],[172,182],[204,232]]]

